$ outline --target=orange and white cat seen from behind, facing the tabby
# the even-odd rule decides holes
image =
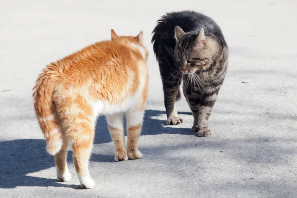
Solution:
[[[67,145],[83,188],[93,188],[88,163],[98,115],[106,115],[114,142],[115,160],[142,157],[137,149],[148,95],[148,50],[143,33],[117,36],[50,63],[33,88],[34,108],[54,155],[59,181],[70,181]],[[125,148],[123,115],[127,118],[128,152]]]

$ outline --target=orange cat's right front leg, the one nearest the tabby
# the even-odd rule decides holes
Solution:
[[[144,110],[130,110],[126,112],[126,117],[128,136],[128,156],[129,159],[138,159],[143,156],[137,148],[137,143],[141,134]]]

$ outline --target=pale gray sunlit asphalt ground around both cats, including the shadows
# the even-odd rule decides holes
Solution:
[[[150,44],[165,12],[191,9],[213,18],[230,49],[229,71],[210,118],[213,135],[198,138],[183,98],[184,123],[164,126],[158,65]],[[1,198],[296,198],[297,1],[0,1]],[[142,159],[113,161],[99,118],[90,172],[81,190],[58,183],[53,157],[35,118],[32,88],[46,64],[97,41],[137,35],[150,55],[150,90],[139,149]],[[248,83],[242,83],[247,81]]]

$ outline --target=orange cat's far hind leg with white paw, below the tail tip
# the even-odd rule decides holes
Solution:
[[[57,171],[57,179],[60,182],[69,182],[71,180],[71,173],[67,167],[67,146],[68,146],[68,139],[63,137],[63,146],[61,150],[54,155],[54,161],[56,164],[56,171]]]

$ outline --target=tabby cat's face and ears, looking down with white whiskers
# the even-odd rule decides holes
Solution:
[[[199,34],[185,33],[180,27],[175,27],[176,46],[174,58],[184,73],[207,70],[210,67],[211,50],[207,47],[204,30]]]

